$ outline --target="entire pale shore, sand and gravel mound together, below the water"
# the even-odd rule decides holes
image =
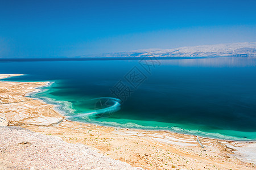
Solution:
[[[0,169],[256,169],[256,142],[65,120],[26,97],[46,84],[0,82]]]

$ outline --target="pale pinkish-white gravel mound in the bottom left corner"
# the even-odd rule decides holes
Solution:
[[[0,127],[0,169],[139,169],[85,145],[16,126]]]

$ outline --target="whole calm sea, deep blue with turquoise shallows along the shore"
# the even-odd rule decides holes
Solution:
[[[0,62],[0,71],[27,74],[7,80],[55,82],[32,96],[58,105],[74,121],[256,139],[255,58],[165,59],[148,67],[144,63]]]

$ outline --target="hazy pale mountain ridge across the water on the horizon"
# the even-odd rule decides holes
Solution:
[[[184,46],[174,49],[145,49],[132,52],[104,53],[80,57],[220,57],[256,56],[256,42],[239,42],[232,44]]]

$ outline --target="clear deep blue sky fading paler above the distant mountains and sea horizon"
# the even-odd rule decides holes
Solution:
[[[256,42],[255,9],[255,0],[0,0],[0,57]]]

